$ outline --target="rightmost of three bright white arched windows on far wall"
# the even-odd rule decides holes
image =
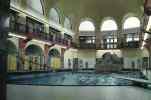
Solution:
[[[140,27],[140,20],[137,17],[129,17],[123,24],[123,29],[138,28]]]

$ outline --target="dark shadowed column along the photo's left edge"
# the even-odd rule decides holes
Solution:
[[[0,100],[6,100],[7,44],[9,29],[9,0],[0,0]]]

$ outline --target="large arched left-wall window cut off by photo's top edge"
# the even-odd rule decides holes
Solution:
[[[30,10],[31,13],[43,15],[43,7],[41,4],[41,0],[26,0],[26,1],[28,10]]]

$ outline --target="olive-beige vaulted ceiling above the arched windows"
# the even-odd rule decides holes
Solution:
[[[25,3],[26,0],[21,0]],[[144,0],[43,0],[45,16],[51,8],[58,8],[61,19],[71,19],[73,29],[77,31],[81,20],[92,19],[100,26],[106,17],[112,17],[121,26],[126,16],[143,15]],[[62,21],[63,22],[63,21]]]

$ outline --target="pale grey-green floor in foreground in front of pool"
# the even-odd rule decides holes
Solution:
[[[7,85],[7,100],[151,100],[151,90],[128,86]]]

